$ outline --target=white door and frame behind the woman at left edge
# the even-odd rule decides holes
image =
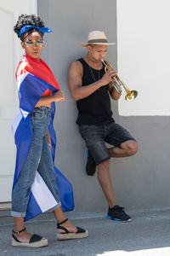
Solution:
[[[0,0],[0,202],[11,201],[16,158],[11,132],[11,123],[18,110],[14,73],[23,50],[19,38],[14,34],[14,24],[19,15],[32,13],[37,14],[37,0]]]

